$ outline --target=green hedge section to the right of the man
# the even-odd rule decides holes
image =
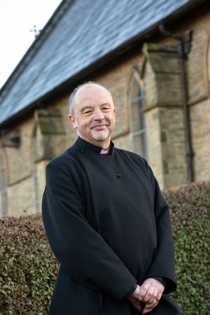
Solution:
[[[178,288],[183,315],[210,314],[210,182],[164,192],[171,209]]]

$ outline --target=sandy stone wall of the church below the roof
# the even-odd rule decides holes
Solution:
[[[210,8],[196,10],[179,23],[174,23],[171,30],[177,34],[193,30],[193,42],[186,63],[188,103],[195,153],[195,180],[202,181],[210,179]],[[153,45],[147,44],[147,52],[141,52],[139,43],[139,47],[117,57],[83,81],[95,80],[111,91],[117,111],[113,141],[116,147],[131,150],[128,94],[134,70],[139,73],[145,92],[148,162],[160,187],[165,188],[188,181],[181,65],[176,49],[174,50],[174,40],[154,36],[149,41]],[[3,169],[6,179],[4,201],[7,200],[7,214],[41,211],[45,165],[71,146],[77,137],[68,119],[71,90],[72,86],[69,86],[69,92],[62,94],[57,100],[52,99],[45,107],[48,113],[55,110],[60,113],[62,127],[59,127],[61,120],[57,120],[54,134],[53,130],[46,132],[41,127],[40,120],[36,120],[34,113],[6,130],[6,134],[1,133],[0,169]],[[61,129],[62,132],[59,133]],[[20,138],[20,143],[10,146],[9,141],[14,138],[14,132]],[[2,179],[3,177],[1,183]],[[3,184],[0,188],[2,187]],[[2,204],[0,191],[0,207]],[[0,215],[4,214],[3,211],[0,209]]]

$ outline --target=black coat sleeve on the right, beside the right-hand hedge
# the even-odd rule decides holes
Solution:
[[[147,278],[160,276],[165,279],[164,293],[176,290],[174,241],[172,237],[172,226],[169,216],[169,206],[162,197],[158,181],[155,179],[150,167],[149,172],[154,188],[154,211],[157,229],[157,251],[153,262],[148,270]]]

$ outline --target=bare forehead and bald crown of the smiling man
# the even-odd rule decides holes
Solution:
[[[81,87],[76,93],[75,108],[83,106],[100,106],[101,104],[110,104],[113,106],[111,93],[104,87],[90,85]]]

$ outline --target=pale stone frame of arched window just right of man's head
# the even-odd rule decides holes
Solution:
[[[139,83],[139,96],[132,98],[132,87],[134,86],[134,82]],[[131,148],[134,153],[140,154],[143,158],[147,158],[147,145],[146,145],[146,119],[144,113],[144,84],[140,78],[139,72],[134,69],[130,76],[129,85],[128,85],[128,106],[130,112],[130,135],[131,135]],[[132,111],[132,104],[139,100],[140,106],[140,120],[144,128],[140,128],[137,131],[134,131],[134,124],[133,124],[133,111]],[[137,152],[135,145],[134,145],[134,138],[141,136],[142,147],[143,151],[141,153]]]

